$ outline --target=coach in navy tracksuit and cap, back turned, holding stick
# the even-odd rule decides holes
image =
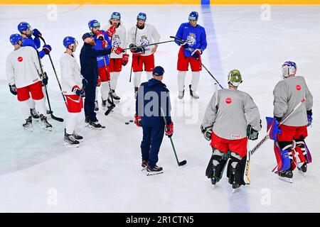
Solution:
[[[161,80],[164,77],[164,68],[157,66],[152,72],[152,79],[140,85],[136,100],[135,123],[143,130],[141,143],[142,167],[146,167],[148,175],[156,175],[163,172],[158,167],[158,154],[164,132],[171,137],[174,133],[174,123],[171,121],[170,95],[166,84]],[[161,109],[162,113],[161,114]],[[167,126],[164,123],[166,118]]]

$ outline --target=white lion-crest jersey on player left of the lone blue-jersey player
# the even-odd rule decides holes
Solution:
[[[137,26],[132,27],[128,33],[128,47],[131,43],[134,43],[137,46],[149,45],[150,43],[159,43],[161,38],[158,31],[151,24],[145,23],[143,29],[137,28]],[[137,31],[137,34],[136,34]],[[134,40],[136,40],[134,42]],[[154,45],[147,46],[146,52],[142,56],[151,55],[151,49],[154,48]]]

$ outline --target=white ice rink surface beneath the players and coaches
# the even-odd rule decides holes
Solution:
[[[272,90],[281,79],[281,65],[286,60],[297,62],[297,74],[306,78],[314,95],[314,122],[306,139],[313,162],[306,178],[296,170],[293,184],[280,181],[271,172],[276,161],[273,143],[268,141],[252,156],[250,185],[231,194],[224,175],[212,189],[205,176],[211,149],[200,124],[215,90],[213,79],[203,70],[200,99],[192,101],[187,89],[184,101],[178,101],[178,46],[174,43],[159,45],[155,59],[156,65],[166,71],[164,83],[171,90],[174,106],[173,139],[178,157],[187,160],[187,165],[176,165],[170,141],[164,138],[159,153],[164,174],[146,177],[141,171],[142,130],[134,123],[124,124],[133,119],[131,60],[119,77],[117,93],[122,101],[109,116],[99,111],[98,119],[107,128],[92,131],[84,127],[84,116],[79,121],[78,131],[85,137],[80,148],[65,148],[64,123],[50,118],[53,132],[43,132],[40,123],[34,123],[33,133],[23,130],[21,106],[9,92],[5,74],[6,56],[13,50],[9,35],[18,32],[19,22],[27,21],[43,33],[53,47],[51,56],[60,74],[63,38],[73,35],[79,40],[78,56],[81,36],[88,31],[90,19],[105,25],[112,11],[119,11],[129,30],[137,13],[144,11],[146,23],[156,26],[165,41],[176,35],[178,26],[193,10],[199,12],[198,23],[207,32],[203,64],[223,87],[228,72],[240,70],[244,81],[240,90],[251,94],[260,109],[260,139],[265,134],[265,116],[272,116]],[[260,6],[58,6],[55,18],[47,6],[0,6],[0,211],[319,212],[320,6],[272,6],[270,12],[270,20],[265,21]],[[48,56],[43,58],[43,65],[49,76],[54,114],[65,118],[66,109]],[[145,74],[142,77],[146,79]],[[186,81],[190,79],[188,73]],[[250,147],[256,143],[250,141]]]

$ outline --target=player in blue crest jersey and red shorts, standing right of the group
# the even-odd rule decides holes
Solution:
[[[178,99],[183,99],[184,96],[186,71],[188,71],[189,64],[192,71],[191,84],[189,84],[190,95],[193,99],[199,99],[196,91],[198,89],[200,71],[202,70],[201,55],[203,54],[203,50],[207,48],[207,38],[205,29],[197,23],[198,17],[198,13],[192,11],[188,17],[189,22],[181,23],[176,33],[176,37],[183,40],[183,42],[176,40],[176,43],[181,46],[178,52],[177,63]]]

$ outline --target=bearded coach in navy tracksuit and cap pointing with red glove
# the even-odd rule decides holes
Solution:
[[[95,87],[98,80],[98,65],[97,56],[110,55],[115,52],[119,55],[123,50],[122,48],[107,48],[105,50],[95,50],[95,40],[92,33],[85,33],[82,35],[82,40],[85,42],[80,52],[80,65],[81,74],[85,77],[83,86],[85,87],[85,122],[88,123],[90,128],[101,129],[102,126],[97,120],[95,114]]]

